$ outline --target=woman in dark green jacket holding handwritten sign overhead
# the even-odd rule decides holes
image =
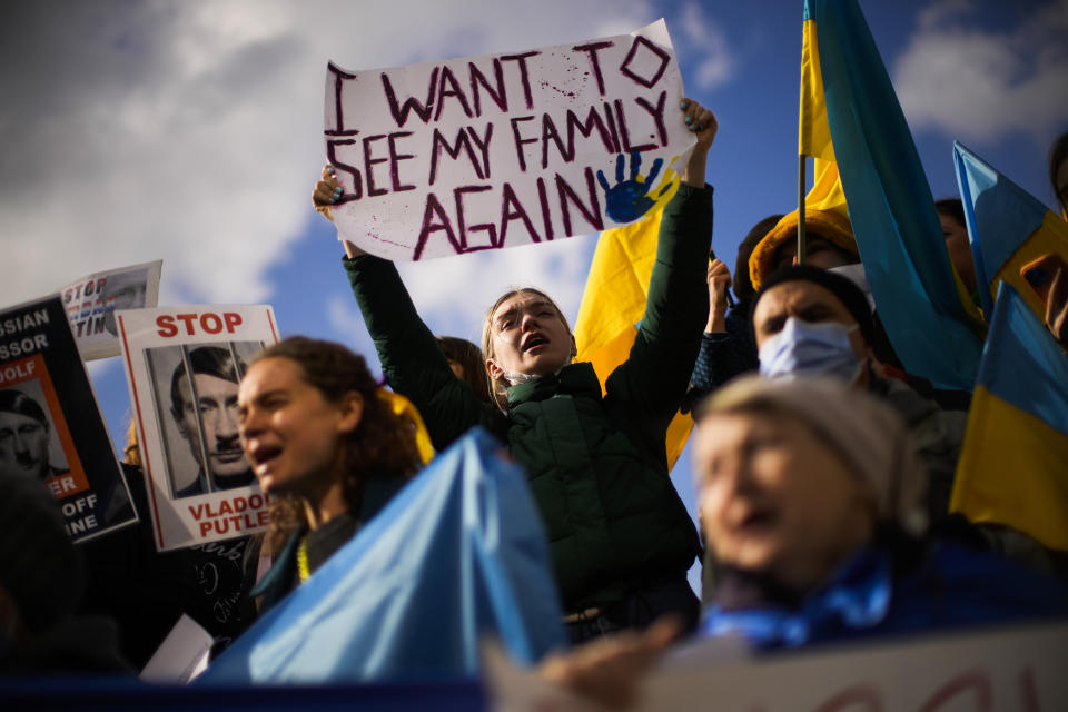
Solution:
[[[526,468],[575,642],[643,627],[663,613],[692,627],[699,614],[686,571],[700,542],[669,478],[664,437],[709,310],[712,189],[704,172],[718,125],[693,101],[681,109],[676,120],[696,146],[664,209],[639,335],[603,397],[593,366],[572,364],[575,340],[563,314],[527,288],[503,295],[486,317],[497,407],[479,402],[449,369],[393,263],[345,243],[345,269],[383,368],[419,409],[434,446],[483,425]],[[340,190],[334,170],[324,168],[313,197],[328,219]]]

